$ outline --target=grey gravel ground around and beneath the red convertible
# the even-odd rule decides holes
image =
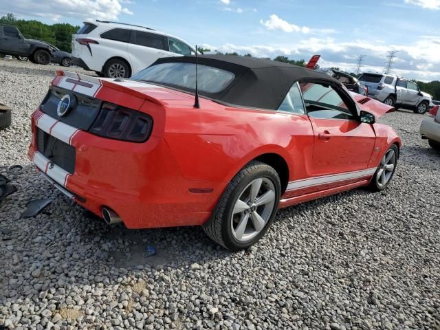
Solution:
[[[419,138],[423,116],[384,116],[404,141],[386,191],[281,210],[259,244],[231,253],[201,228],[104,225],[36,173],[29,118],[56,68],[0,61],[0,102],[14,109],[0,132],[0,172],[25,166],[0,205],[0,325],[440,329],[440,154]],[[54,200],[21,219],[36,198]]]

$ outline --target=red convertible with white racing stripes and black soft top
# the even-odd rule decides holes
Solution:
[[[375,120],[393,108],[270,60],[199,56],[197,70],[182,56],[131,79],[57,72],[30,159],[108,223],[203,225],[230,250],[258,241],[278,208],[388,186],[401,140]]]

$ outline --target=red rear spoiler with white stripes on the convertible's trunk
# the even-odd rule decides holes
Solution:
[[[60,85],[61,84],[61,85]],[[72,84],[75,87],[72,87]],[[100,89],[102,87],[108,87],[111,89],[115,89],[117,91],[122,91],[125,94],[129,94],[131,96],[135,96],[137,98],[142,98],[144,100],[148,100],[158,105],[164,105],[166,102],[162,102],[157,98],[153,98],[148,96],[146,93],[142,93],[141,91],[137,91],[135,89],[131,89],[130,87],[113,83],[111,80],[102,79],[98,77],[87,76],[86,74],[77,74],[76,72],[57,70],[56,77],[52,80],[52,85],[60,86],[66,89],[75,89],[78,93],[85,94],[88,96],[96,97]],[[80,87],[76,87],[76,86]]]

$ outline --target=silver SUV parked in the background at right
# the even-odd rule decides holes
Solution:
[[[412,109],[415,113],[426,113],[434,104],[432,96],[419,89],[411,80],[392,74],[364,73],[359,77],[366,85],[371,98],[380,100],[396,109]]]

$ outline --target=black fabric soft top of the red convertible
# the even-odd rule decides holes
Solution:
[[[153,65],[161,63],[195,63],[195,56],[159,58]],[[198,63],[217,67],[235,75],[232,83],[223,91],[216,94],[200,91],[201,96],[244,107],[278,109],[289,89],[298,80],[309,78],[341,85],[338,80],[327,74],[265,58],[203,55],[198,56]]]

